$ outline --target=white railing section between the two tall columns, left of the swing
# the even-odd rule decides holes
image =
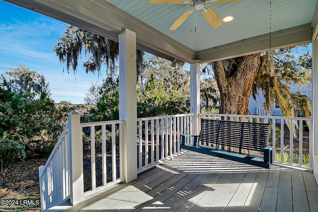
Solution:
[[[137,173],[156,166],[180,151],[180,135],[192,134],[193,114],[137,119]]]

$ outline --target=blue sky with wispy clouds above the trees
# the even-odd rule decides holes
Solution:
[[[101,81],[105,71],[98,78],[97,74],[86,74],[80,63],[76,75],[73,70],[68,74],[65,69],[63,73],[53,49],[57,44],[55,38],[63,34],[66,26],[61,21],[0,1],[0,74],[23,63],[45,76],[56,103],[63,100],[84,103],[84,93],[91,82]]]

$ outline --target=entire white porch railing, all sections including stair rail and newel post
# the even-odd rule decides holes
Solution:
[[[200,132],[203,118],[270,123],[269,145],[274,148],[275,163],[312,169],[312,119],[202,113],[137,119],[137,173],[177,155],[180,135]],[[39,168],[43,211],[68,200],[75,205],[123,180],[123,124],[124,121],[80,124],[77,112],[69,115],[48,161]]]

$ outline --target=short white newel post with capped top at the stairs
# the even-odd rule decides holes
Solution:
[[[83,179],[83,143],[80,138],[81,128],[79,113],[73,111],[69,114],[69,143],[70,165],[71,165],[71,204],[76,205],[83,201],[84,179]]]

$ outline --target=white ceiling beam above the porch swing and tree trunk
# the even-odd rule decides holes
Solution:
[[[311,23],[272,32],[272,49],[312,42]],[[269,33],[196,52],[201,63],[240,57],[269,49]]]

